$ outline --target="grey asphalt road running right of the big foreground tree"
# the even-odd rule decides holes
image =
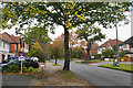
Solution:
[[[58,61],[63,66],[63,61]],[[131,86],[131,74],[71,62],[71,70],[93,86]]]

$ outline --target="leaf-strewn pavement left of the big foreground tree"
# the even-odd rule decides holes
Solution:
[[[60,78],[60,74],[55,73],[62,69],[62,66],[53,66],[53,63],[47,62],[45,66],[41,64],[41,67],[43,67],[42,78],[38,79],[34,77],[29,86],[89,86],[82,82],[72,82]]]

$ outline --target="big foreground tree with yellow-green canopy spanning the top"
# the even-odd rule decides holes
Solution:
[[[110,28],[115,19],[125,19],[124,11],[129,3],[109,2],[2,2],[2,28],[10,20],[12,25],[31,25],[34,19],[42,26],[49,26],[53,32],[54,25],[64,28],[64,70],[70,70],[69,30],[82,24],[95,23]],[[115,16],[117,15],[117,16]]]

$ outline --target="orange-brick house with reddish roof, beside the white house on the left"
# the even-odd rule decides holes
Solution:
[[[2,33],[2,40],[10,44],[9,52],[16,54],[16,56],[19,56],[19,53],[25,53],[29,50],[28,44],[25,44],[20,36],[14,36],[13,34],[9,35],[4,32]]]

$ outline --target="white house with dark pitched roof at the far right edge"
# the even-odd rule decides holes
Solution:
[[[133,36],[131,36],[130,38],[127,38],[126,41],[124,41],[120,47],[122,48],[122,51],[130,51],[133,53]]]

